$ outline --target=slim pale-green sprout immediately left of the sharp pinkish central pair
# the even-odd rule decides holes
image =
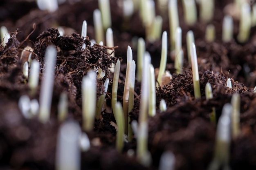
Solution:
[[[117,119],[116,112],[115,112],[115,105],[117,103],[117,90],[118,90],[118,80],[119,80],[119,73],[120,73],[120,61],[117,60],[113,78],[113,85],[112,85],[112,98],[111,98],[111,105],[113,109],[113,113],[115,119]]]

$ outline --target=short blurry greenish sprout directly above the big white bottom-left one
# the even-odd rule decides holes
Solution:
[[[68,99],[67,93],[62,92],[58,102],[58,121],[64,121],[67,118]]]

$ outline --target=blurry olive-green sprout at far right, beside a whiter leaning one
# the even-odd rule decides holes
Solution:
[[[236,138],[240,134],[240,95],[233,94],[231,98],[231,104],[233,107],[233,112],[231,116],[232,122],[232,137]]]

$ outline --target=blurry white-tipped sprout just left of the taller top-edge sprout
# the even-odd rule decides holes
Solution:
[[[96,39],[96,42],[99,43],[104,40],[103,26],[101,22],[101,11],[99,9],[95,9],[93,11],[93,23],[94,23],[95,39]]]

